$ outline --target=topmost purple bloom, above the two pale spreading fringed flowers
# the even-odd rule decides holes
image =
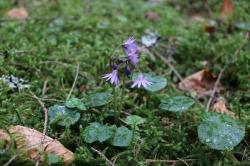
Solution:
[[[127,54],[128,59],[136,64],[138,60],[138,46],[134,38],[130,37],[123,43],[123,48]]]

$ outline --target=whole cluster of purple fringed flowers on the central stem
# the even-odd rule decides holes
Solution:
[[[119,63],[112,62],[112,71],[106,75],[103,76],[103,78],[106,79],[106,81],[110,81],[111,84],[119,85],[120,84],[120,78],[119,78],[119,67],[121,64],[125,64],[125,74],[129,76],[132,72],[130,65],[137,66],[139,62],[139,51],[138,46],[136,44],[136,41],[134,38],[130,37],[123,43],[123,49],[126,54],[125,60],[120,60]],[[124,59],[124,58],[123,58]],[[138,66],[137,66],[138,68]],[[134,87],[147,87],[151,83],[146,80],[146,78],[143,76],[142,73],[139,73],[137,77],[134,79],[134,82],[132,84],[132,88]]]

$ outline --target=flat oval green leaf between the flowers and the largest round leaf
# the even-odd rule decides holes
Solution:
[[[171,112],[184,112],[187,111],[194,101],[186,96],[175,96],[161,100],[160,109]]]

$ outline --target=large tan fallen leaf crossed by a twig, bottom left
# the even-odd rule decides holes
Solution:
[[[4,134],[3,130],[1,131],[0,140],[8,141],[8,135]],[[30,159],[36,159],[41,151],[57,155],[61,157],[65,163],[70,163],[74,159],[74,154],[59,141],[48,136],[45,136],[43,140],[43,133],[35,129],[17,125],[10,127],[9,133],[15,136],[16,147],[26,150],[25,156]]]

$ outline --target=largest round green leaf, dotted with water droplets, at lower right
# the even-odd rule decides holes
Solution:
[[[208,113],[198,127],[200,141],[217,150],[233,148],[240,143],[244,135],[244,126],[236,120],[218,113]]]

